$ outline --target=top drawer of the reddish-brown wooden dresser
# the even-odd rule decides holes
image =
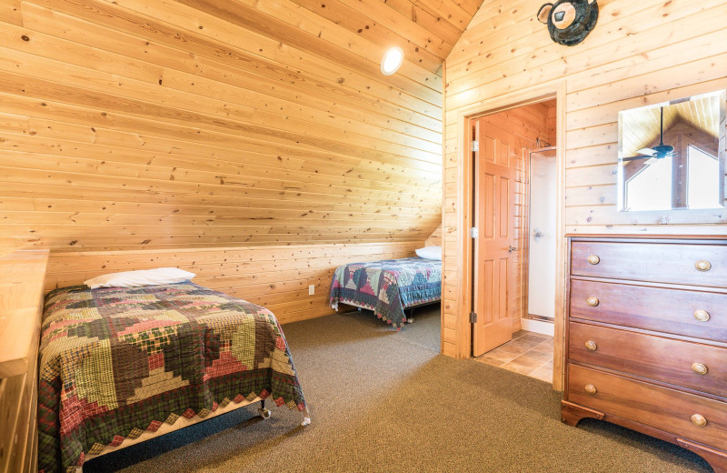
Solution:
[[[727,287],[727,246],[574,241],[571,274]]]

